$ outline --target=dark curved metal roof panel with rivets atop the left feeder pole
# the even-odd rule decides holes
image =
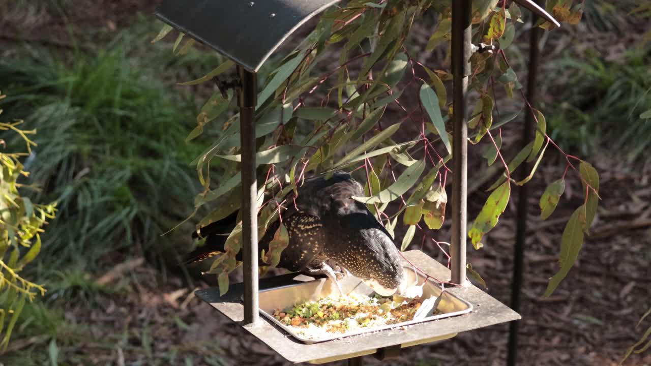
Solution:
[[[163,1],[154,14],[249,72],[298,27],[340,0]]]

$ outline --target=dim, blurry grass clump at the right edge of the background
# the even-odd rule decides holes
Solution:
[[[651,109],[650,61],[644,49],[616,61],[605,61],[596,51],[559,61],[557,71],[568,79],[549,108],[551,137],[583,155],[606,148],[635,160],[651,145],[651,120],[640,117]]]

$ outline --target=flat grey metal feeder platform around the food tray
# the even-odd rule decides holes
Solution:
[[[406,251],[404,256],[427,274],[439,279],[450,279],[450,270],[422,251]],[[279,275],[260,279],[260,291],[301,285],[305,283],[305,279],[323,281],[323,279],[313,280],[312,277],[305,275],[298,277],[296,274]],[[445,289],[445,292],[470,303],[472,311],[456,317],[424,321],[409,326],[312,344],[297,341],[267,319],[255,325],[243,325],[243,328],[290,362],[318,364],[371,354],[391,356],[391,354],[398,354],[400,348],[443,341],[464,331],[520,318],[518,313],[474,285],[449,287]],[[210,303],[219,313],[236,323],[243,324],[244,307],[241,300],[243,283],[231,285],[229,292],[221,298],[217,288],[197,290],[196,294],[205,302]],[[264,311],[265,309],[260,310]]]

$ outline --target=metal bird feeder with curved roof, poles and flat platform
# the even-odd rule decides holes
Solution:
[[[295,274],[258,281],[258,238],[256,207],[255,107],[256,72],[284,40],[303,23],[339,0],[163,0],[156,16],[179,31],[214,48],[238,68],[242,154],[242,238],[243,283],[231,285],[219,296],[216,288],[198,290],[197,296],[217,311],[237,322],[283,358],[294,363],[326,363],[348,359],[361,365],[361,356],[397,356],[401,348],[432,343],[494,324],[518,320],[520,316],[465,279],[466,195],[467,195],[467,117],[466,91],[471,45],[471,0],[452,1],[452,74],[454,75],[454,130],[452,134],[452,241],[451,270],[422,251],[407,251],[404,256],[433,277],[450,279],[460,286],[446,288],[456,317],[423,321],[400,328],[376,331],[356,337],[343,337],[319,343],[301,343],[289,337],[272,320],[260,319],[260,298],[264,301],[283,289],[292,296],[302,289],[322,289],[329,279]],[[516,1],[541,18],[558,25],[542,8],[529,0]],[[281,295],[286,296],[286,294]],[[461,304],[461,305],[459,305]],[[465,305],[464,305],[465,304]],[[450,305],[450,306],[452,306]]]

